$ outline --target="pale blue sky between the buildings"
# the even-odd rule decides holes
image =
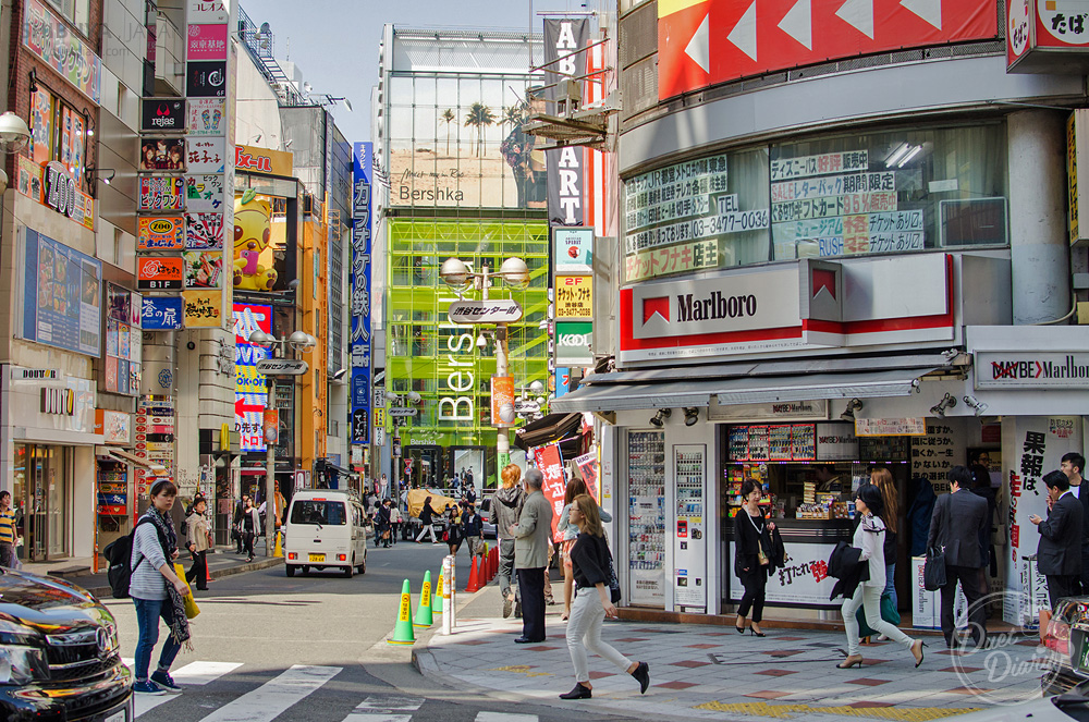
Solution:
[[[590,0],[590,9],[596,3]],[[276,59],[294,62],[314,93],[346,97],[332,108],[348,142],[370,139],[370,88],[378,84],[378,44],[387,23],[540,32],[542,11],[584,11],[582,0],[241,0],[272,29]]]

